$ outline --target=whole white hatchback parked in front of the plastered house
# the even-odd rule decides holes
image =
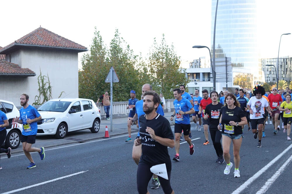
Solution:
[[[37,108],[41,120],[37,122],[37,135],[55,135],[64,138],[68,132],[100,128],[100,109],[93,100],[82,98],[52,99]]]

